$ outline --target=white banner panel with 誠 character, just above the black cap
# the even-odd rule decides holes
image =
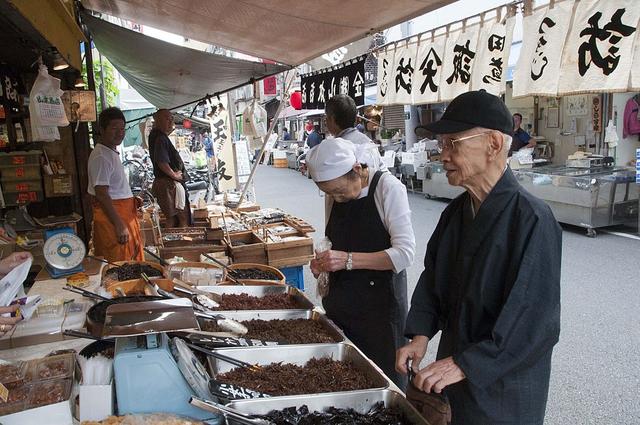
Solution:
[[[440,101],[448,102],[471,89],[471,72],[478,46],[479,25],[449,34],[444,53]]]

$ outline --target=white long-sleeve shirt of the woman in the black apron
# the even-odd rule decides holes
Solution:
[[[369,184],[371,184],[374,174],[375,172],[370,170]],[[358,199],[364,198],[368,194],[369,185],[362,189]],[[416,238],[411,225],[411,209],[407,189],[391,173],[382,173],[373,199],[382,224],[391,237],[391,248],[386,249],[385,252],[393,263],[394,273],[400,273],[413,264],[416,251]],[[326,196],[325,207],[326,222],[328,223],[333,207],[331,196]]]

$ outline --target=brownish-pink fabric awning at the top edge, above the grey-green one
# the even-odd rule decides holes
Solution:
[[[82,0],[82,4],[194,40],[299,65],[453,1]]]

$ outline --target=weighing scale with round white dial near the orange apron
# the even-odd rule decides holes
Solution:
[[[44,259],[52,278],[57,279],[84,270],[82,260],[87,248],[70,227],[46,230],[44,236]]]

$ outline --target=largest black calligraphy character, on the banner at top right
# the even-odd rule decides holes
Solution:
[[[611,17],[611,22],[600,28],[600,18],[602,12],[596,12],[589,18],[589,27],[580,32],[580,37],[589,36],[578,48],[578,72],[580,75],[586,74],[591,63],[602,70],[604,75],[609,75],[618,67],[620,55],[617,55],[619,48],[616,45],[623,37],[633,34],[636,29],[622,23],[622,15],[626,9],[618,9]],[[602,56],[598,48],[598,41],[607,41],[609,49],[608,55]]]

